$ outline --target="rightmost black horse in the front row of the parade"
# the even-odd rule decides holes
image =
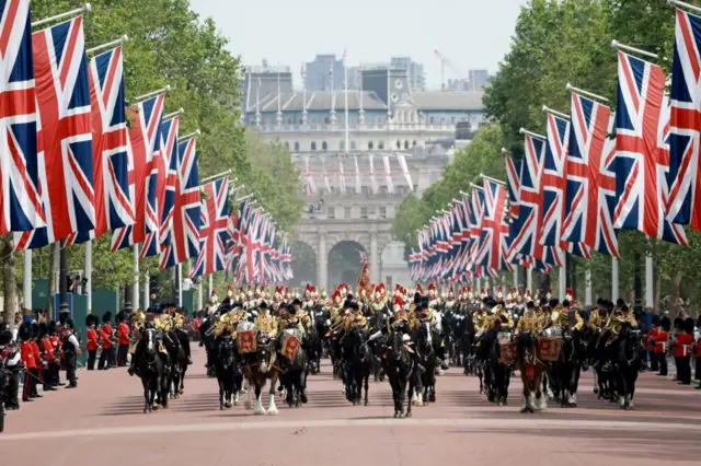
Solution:
[[[628,322],[621,324],[618,339],[611,343],[616,350],[614,368],[617,372],[617,387],[621,409],[633,409],[635,381],[643,364],[642,333],[633,328]]]

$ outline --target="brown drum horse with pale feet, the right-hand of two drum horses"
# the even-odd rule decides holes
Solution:
[[[551,333],[548,336],[552,336]],[[544,410],[548,407],[547,397],[541,391],[545,365],[538,359],[537,341],[528,333],[521,333],[516,341],[516,364],[524,384],[521,412],[532,413],[536,409]]]

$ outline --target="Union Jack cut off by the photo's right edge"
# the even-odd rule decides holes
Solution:
[[[671,73],[667,219],[701,231],[701,18],[677,10]]]

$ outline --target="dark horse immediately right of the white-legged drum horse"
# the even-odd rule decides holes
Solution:
[[[296,338],[296,349],[290,349],[289,345],[284,347],[284,340]],[[303,337],[297,329],[287,329],[280,335],[280,373],[279,380],[287,392],[285,401],[291,407],[300,407],[307,403],[307,374],[308,357],[307,351],[301,347]]]

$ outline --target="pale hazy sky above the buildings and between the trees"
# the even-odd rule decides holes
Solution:
[[[427,86],[440,88],[438,49],[453,65],[446,80],[470,69],[498,70],[526,0],[191,0],[211,16],[243,65],[288,65],[296,83],[317,54],[346,50],[348,66],[410,56],[424,65]],[[456,74],[462,74],[460,77]]]

